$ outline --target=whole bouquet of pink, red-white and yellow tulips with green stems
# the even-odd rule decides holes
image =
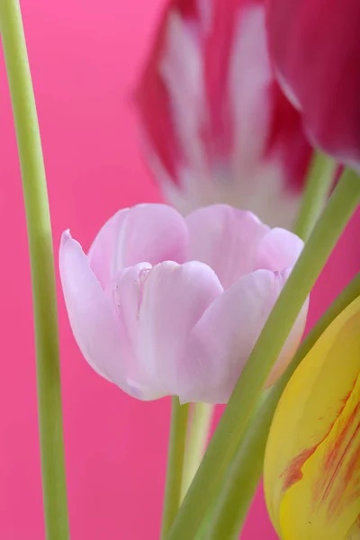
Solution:
[[[360,278],[302,339],[360,201],[358,0],[167,0],[135,103],[167,204],[59,271],[77,345],[172,398],[161,540],[235,540],[264,473],[282,540],[360,538]],[[31,255],[47,540],[69,538],[49,204],[19,0],[0,0]],[[208,444],[214,405],[226,404]]]

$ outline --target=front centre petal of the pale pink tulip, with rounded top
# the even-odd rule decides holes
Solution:
[[[165,262],[148,273],[139,310],[138,353],[148,379],[164,394],[179,395],[189,333],[221,293],[217,276],[202,263]],[[202,376],[194,363],[188,378]]]

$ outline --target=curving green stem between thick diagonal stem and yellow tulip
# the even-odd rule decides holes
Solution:
[[[281,379],[266,393],[254,422],[241,437],[235,459],[221,483],[220,493],[208,524],[207,540],[238,540],[257,484],[263,473],[266,441],[277,404],[295,369],[321,334],[347,306],[360,296],[360,274],[347,285],[303,340]]]

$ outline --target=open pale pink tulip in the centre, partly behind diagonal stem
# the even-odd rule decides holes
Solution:
[[[87,256],[64,232],[60,276],[77,344],[98,374],[141,400],[226,402],[302,245],[226,205],[186,219],[162,204],[119,211]]]

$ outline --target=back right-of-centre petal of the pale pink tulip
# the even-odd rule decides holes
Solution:
[[[250,211],[215,204],[186,218],[189,259],[211,266],[227,289],[255,269],[257,248],[270,230]]]

